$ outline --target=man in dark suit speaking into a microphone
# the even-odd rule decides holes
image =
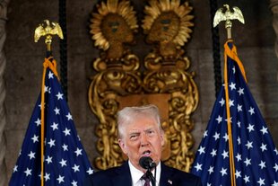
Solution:
[[[147,172],[139,160],[143,156],[151,157],[156,164],[152,169],[155,186],[202,186],[199,177],[185,173],[161,163],[164,132],[161,119],[155,105],[126,107],[117,113],[118,144],[128,156],[128,161],[86,178],[83,186],[149,186],[143,179]],[[151,171],[151,170],[149,170]]]

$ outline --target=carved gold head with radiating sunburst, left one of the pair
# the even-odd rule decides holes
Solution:
[[[134,40],[138,28],[135,11],[128,1],[108,0],[97,4],[98,13],[92,13],[91,34],[95,46],[108,50],[107,58],[121,58],[124,43]]]

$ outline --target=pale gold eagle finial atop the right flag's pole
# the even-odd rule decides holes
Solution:
[[[213,27],[216,27],[219,22],[225,21],[225,28],[228,32],[228,39],[230,39],[230,29],[231,29],[231,20],[239,20],[244,24],[244,17],[237,6],[233,6],[232,10],[230,11],[229,4],[223,4],[225,8],[220,8],[216,11],[214,18],[213,18]]]

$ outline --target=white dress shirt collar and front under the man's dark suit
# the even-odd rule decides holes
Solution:
[[[143,172],[136,169],[133,164],[131,164],[130,161],[128,161],[130,173],[131,173],[131,179],[132,179],[132,185],[133,186],[143,186],[144,181],[141,180],[141,177],[143,176]],[[152,175],[154,175],[154,169],[152,170]],[[161,162],[156,166],[156,186],[159,185],[160,179],[161,179]],[[151,182],[152,185],[152,182]]]

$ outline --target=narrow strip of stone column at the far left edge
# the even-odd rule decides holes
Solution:
[[[4,40],[6,36],[5,22],[7,20],[7,5],[9,0],[0,0],[0,186],[7,185],[6,165],[4,155],[6,149],[6,141],[4,138],[4,126],[6,124],[6,113],[4,109],[5,87],[4,87],[4,68],[6,58],[4,55]]]

